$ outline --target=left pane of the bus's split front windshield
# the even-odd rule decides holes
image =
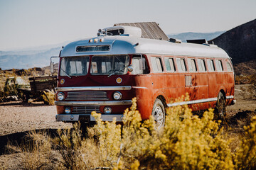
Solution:
[[[60,76],[84,76],[88,72],[90,57],[63,57]]]

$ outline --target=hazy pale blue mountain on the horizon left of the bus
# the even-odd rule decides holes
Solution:
[[[61,47],[38,51],[0,51],[0,68],[28,69],[32,67],[46,67],[50,64],[50,57],[58,56],[60,50]]]

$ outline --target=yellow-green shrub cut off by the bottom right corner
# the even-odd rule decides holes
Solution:
[[[236,168],[256,169],[256,116],[244,128],[245,137],[236,154]]]

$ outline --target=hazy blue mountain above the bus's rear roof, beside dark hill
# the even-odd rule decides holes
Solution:
[[[169,34],[169,38],[176,38],[181,40],[182,42],[186,42],[186,40],[195,40],[195,39],[206,39],[206,40],[213,40],[213,38],[218,37],[225,31],[216,31],[214,33],[178,33],[178,34]]]

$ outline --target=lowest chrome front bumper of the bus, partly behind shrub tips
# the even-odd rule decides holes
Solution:
[[[60,115],[56,115],[56,121],[63,121],[63,122],[78,122],[79,121],[79,116],[82,115],[88,115],[88,114],[60,114]],[[113,121],[113,118],[117,118],[116,121],[117,122],[122,122],[122,118],[124,115],[101,115],[101,119],[102,121]],[[90,121],[96,121],[95,118],[90,115]]]

